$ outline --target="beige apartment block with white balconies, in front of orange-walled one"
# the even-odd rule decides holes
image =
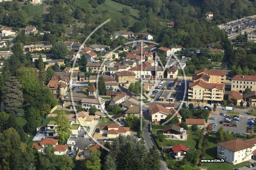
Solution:
[[[224,84],[206,83],[199,80],[194,83],[189,83],[188,99],[191,102],[208,103],[208,101],[221,101],[225,91]]]

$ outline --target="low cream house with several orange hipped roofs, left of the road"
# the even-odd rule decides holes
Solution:
[[[120,124],[109,123],[107,126],[100,126],[99,134],[107,134],[107,138],[116,138],[119,135],[129,135],[130,127],[120,127]]]

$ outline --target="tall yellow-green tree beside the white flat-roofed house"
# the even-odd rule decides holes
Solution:
[[[66,116],[64,111],[59,112],[59,114],[54,118],[56,123],[56,134],[59,136],[61,141],[64,141],[65,138],[72,134],[71,125],[69,124],[69,119]]]

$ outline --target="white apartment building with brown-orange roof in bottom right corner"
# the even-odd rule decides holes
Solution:
[[[230,164],[239,164],[256,158],[256,138],[239,138],[217,143],[217,157]]]

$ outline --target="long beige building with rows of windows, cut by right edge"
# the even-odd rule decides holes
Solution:
[[[235,75],[232,77],[231,90],[243,93],[246,88],[250,88],[252,91],[256,90],[255,75]]]

